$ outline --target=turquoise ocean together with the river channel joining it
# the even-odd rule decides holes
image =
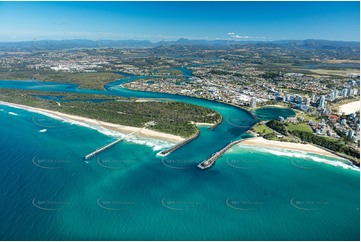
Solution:
[[[358,169],[240,145],[201,171],[200,161],[246,137],[257,119],[231,105],[121,86],[137,78],[149,77],[128,76],[104,91],[0,81],[0,88],[175,100],[223,116],[215,130],[200,127],[196,140],[163,158],[156,154],[172,144],[134,136],[84,162],[122,134],[0,105],[0,239],[359,239]]]

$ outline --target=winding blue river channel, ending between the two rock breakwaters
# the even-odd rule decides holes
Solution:
[[[185,67],[180,67],[185,75],[191,75],[190,71],[187,71]],[[78,85],[56,83],[56,82],[39,82],[39,81],[0,81],[0,88],[11,88],[18,90],[39,90],[39,91],[57,91],[79,94],[100,94],[105,96],[119,96],[125,98],[139,98],[139,99],[152,99],[152,100],[170,100],[176,102],[184,102],[194,104],[206,108],[210,108],[218,112],[222,117],[222,122],[217,125],[214,130],[200,129],[201,135],[192,140],[189,144],[181,147],[179,150],[175,150],[175,157],[172,159],[181,159],[181,156],[190,156],[192,150],[199,150],[202,155],[199,155],[197,160],[201,162],[207,159],[214,152],[218,151],[225,145],[239,140],[245,137],[246,131],[258,122],[258,118],[255,118],[252,113],[225,103],[220,103],[212,100],[199,99],[195,97],[181,96],[176,94],[167,94],[160,92],[145,92],[130,90],[122,86],[124,83],[132,82],[139,79],[152,79],[157,76],[135,76],[122,73],[124,78],[108,83],[104,86],[105,90],[88,90],[80,89]],[[41,95],[42,98],[47,99],[46,95]],[[56,97],[56,100],[61,101],[61,97]],[[104,98],[104,101],[109,99]],[[94,100],[90,100],[93,101]],[[102,100],[101,100],[102,101]],[[292,110],[291,110],[292,111]],[[291,113],[291,112],[288,112]],[[247,136],[247,135],[246,135]],[[204,149],[205,144],[207,149]],[[189,148],[187,148],[189,147]],[[172,152],[173,153],[173,152]]]

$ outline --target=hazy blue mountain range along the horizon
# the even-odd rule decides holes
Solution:
[[[280,41],[236,41],[236,40],[189,40],[150,42],[149,40],[33,40],[22,42],[0,42],[0,50],[62,50],[75,48],[152,48],[161,46],[227,47],[254,45],[256,47],[287,47],[298,49],[338,50],[359,49],[358,41],[330,40],[280,40]]]

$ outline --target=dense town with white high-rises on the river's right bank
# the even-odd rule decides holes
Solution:
[[[193,71],[193,73],[199,72],[199,68]],[[210,74],[209,79],[204,72],[202,72],[202,75],[194,75],[197,77],[191,77],[181,83],[177,79],[173,79],[173,81],[160,79],[157,83],[138,80],[124,84],[124,86],[135,90],[166,92],[216,100],[247,110],[267,105],[290,107],[298,110],[299,115],[286,119],[279,117],[280,121],[285,124],[290,123],[293,126],[300,125],[301,130],[304,129],[304,124],[306,124],[306,130],[308,129],[313,134],[331,140],[343,139],[348,147],[354,149],[357,153],[359,152],[360,78],[354,73],[343,78],[342,82],[344,84],[334,87],[331,91],[326,88],[323,89],[321,83],[327,80],[339,84],[340,80],[323,77],[307,78],[300,73],[285,74],[278,77],[278,83],[269,83],[269,80],[265,78],[258,78],[254,84],[242,82],[242,80],[245,80],[244,78],[237,79],[236,77],[231,79],[222,74],[217,76]],[[291,77],[293,78],[291,79]],[[226,81],[230,79],[233,82]],[[284,88],[284,83],[292,83],[292,85]],[[288,91],[289,89],[292,92]],[[297,90],[301,91],[298,92]],[[348,104],[340,105],[340,103]],[[266,127],[266,129],[270,129],[270,127]],[[277,134],[276,139],[285,140],[283,137],[285,134],[280,135],[277,131],[274,131],[274,133]],[[258,133],[257,135],[264,136],[263,134]],[[275,136],[269,135],[265,137],[275,138]],[[290,141],[290,139],[286,140]],[[291,141],[302,142],[300,139],[291,139]]]

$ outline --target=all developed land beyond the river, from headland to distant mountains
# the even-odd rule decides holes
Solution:
[[[307,132],[342,146],[338,149],[341,153],[345,149],[351,156],[359,152],[357,53],[345,54],[343,58],[349,59],[340,60],[332,51],[314,50],[305,56],[304,52],[292,48],[253,44],[220,48],[106,46],[109,48],[71,51],[48,51],[48,46],[59,47],[35,41],[26,51],[2,49],[0,55],[6,58],[0,58],[0,70],[8,70],[1,73],[2,79],[64,82],[70,79],[80,87],[103,89],[111,79],[142,76],[122,86],[215,100],[249,111],[270,105],[292,108],[296,111],[295,117],[277,118],[287,127],[287,132],[274,130],[266,122],[260,122],[251,132],[266,139],[310,142],[300,138],[301,133],[295,133]],[[323,58],[317,59],[320,53]],[[295,55],[305,60],[300,62]],[[83,75],[82,79],[79,75]],[[91,82],[87,78],[90,75],[93,75]],[[85,79],[89,83],[85,83]],[[323,143],[317,144],[325,146]],[[333,144],[325,148],[330,147]]]

